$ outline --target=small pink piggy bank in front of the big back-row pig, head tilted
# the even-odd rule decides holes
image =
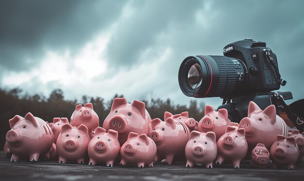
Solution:
[[[156,145],[146,134],[138,135],[130,132],[128,140],[120,148],[121,165],[153,166],[156,155]]]

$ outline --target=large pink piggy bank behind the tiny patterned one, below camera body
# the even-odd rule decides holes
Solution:
[[[249,103],[248,117],[240,121],[239,128],[245,129],[250,149],[262,143],[269,150],[278,134],[287,135],[287,125],[276,115],[275,106],[270,105],[262,111],[253,101]]]

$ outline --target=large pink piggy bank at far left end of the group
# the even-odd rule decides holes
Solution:
[[[50,158],[53,132],[49,125],[31,113],[9,120],[11,130],[6,133],[7,147],[12,152],[12,162],[21,159],[38,161],[39,156]]]

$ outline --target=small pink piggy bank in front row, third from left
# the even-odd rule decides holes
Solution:
[[[105,129],[97,127],[87,147],[90,157],[89,165],[105,163],[107,166],[113,166],[119,151],[118,132],[115,130],[105,132]]]

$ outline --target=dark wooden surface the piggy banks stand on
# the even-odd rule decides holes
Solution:
[[[0,181],[304,181],[304,164],[295,169],[255,168],[248,162],[241,168],[232,165],[214,165],[211,169],[185,167],[178,163],[154,164],[154,167],[89,166],[58,164],[56,162],[10,162],[0,152]]]

